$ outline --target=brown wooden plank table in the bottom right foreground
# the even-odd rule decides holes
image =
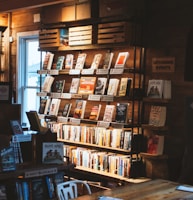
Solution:
[[[77,200],[97,200],[99,196],[111,196],[124,200],[193,200],[193,193],[176,190],[176,182],[168,180],[150,180],[143,183],[121,186],[112,190],[105,190],[84,195],[76,198]]]

